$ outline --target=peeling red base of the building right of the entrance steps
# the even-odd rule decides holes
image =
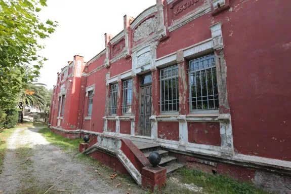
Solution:
[[[274,173],[264,167],[248,167],[247,164],[233,164],[213,162],[213,160],[201,159],[181,153],[171,153],[179,162],[184,163],[189,169],[200,170],[206,173],[221,174],[238,181],[254,183],[257,187],[275,193],[291,193],[291,176],[286,173]],[[266,168],[267,169],[267,168]],[[282,171],[283,172],[283,171]]]

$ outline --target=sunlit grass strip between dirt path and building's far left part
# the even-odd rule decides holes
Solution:
[[[38,133],[43,135],[50,143],[61,147],[65,151],[78,151],[79,143],[83,141],[82,139],[64,138],[51,132],[49,128],[40,129]]]

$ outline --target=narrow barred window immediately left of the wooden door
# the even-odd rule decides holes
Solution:
[[[122,113],[132,112],[133,80],[123,81]]]

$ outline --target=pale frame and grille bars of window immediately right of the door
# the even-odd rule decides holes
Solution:
[[[176,66],[176,68],[177,68],[177,71],[176,71],[176,75],[175,76],[171,76],[171,77],[167,77],[167,78],[162,78],[161,77],[161,73],[162,73],[162,70],[164,70],[164,69],[167,69],[167,68],[172,68],[172,67],[174,67],[174,66]],[[170,66],[167,66],[167,67],[163,67],[163,68],[161,68],[161,69],[159,69],[159,86],[160,86],[160,114],[179,114],[179,107],[180,107],[180,100],[179,100],[179,74],[178,74],[178,71],[179,71],[179,69],[178,69],[179,67],[178,67],[178,64],[174,64],[174,65],[170,65]],[[163,95],[163,93],[162,93],[162,81],[165,81],[165,80],[172,80],[173,81],[173,79],[176,79],[176,103],[173,103],[173,101],[174,101],[174,98],[173,98],[173,91],[172,91],[172,110],[169,110],[169,99],[167,100],[168,101],[168,110],[166,111],[166,110],[162,110],[162,105],[165,105],[165,104],[163,104],[162,103],[162,101],[165,101],[165,100],[162,100],[162,95]],[[172,86],[173,86],[173,84],[172,84]],[[173,105],[174,104],[176,104],[176,109],[177,110],[173,110]]]

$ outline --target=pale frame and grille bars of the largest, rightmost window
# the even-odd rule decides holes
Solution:
[[[194,74],[195,75],[195,72],[201,72],[201,70],[199,70],[199,69],[197,69],[197,70],[191,70],[190,69],[190,63],[191,63],[191,61],[194,61],[194,60],[197,60],[197,59],[200,59],[200,58],[205,58],[205,57],[207,57],[207,56],[211,56],[211,59],[213,58],[214,59],[214,65],[211,65],[211,67],[205,67],[205,68],[203,68],[203,70],[206,70],[206,69],[215,69],[215,71],[216,71],[216,61],[215,61],[215,54],[212,52],[212,53],[208,53],[208,54],[203,54],[203,55],[199,55],[199,56],[197,56],[197,57],[195,57],[195,58],[192,58],[191,60],[189,60],[188,61],[188,81],[189,81],[189,83],[188,83],[188,87],[189,87],[189,110],[190,110],[190,113],[193,113],[193,114],[197,114],[197,113],[219,113],[219,93],[217,92],[217,94],[213,94],[213,98],[214,98],[214,108],[216,107],[215,106],[215,100],[218,100],[218,109],[193,109],[192,108],[192,87],[191,87],[191,76],[192,76],[192,74]],[[205,73],[205,75],[206,75],[206,77],[207,77],[207,74]],[[213,73],[212,73],[212,75],[213,75]],[[216,88],[217,88],[217,90],[218,90],[218,80],[217,80],[217,71],[215,72],[215,76],[216,76]],[[201,77],[201,75],[200,75],[200,77]],[[213,77],[212,77],[212,86],[214,87],[214,84],[213,84]],[[206,81],[206,87],[207,87],[207,81]],[[206,88],[206,91],[207,91],[207,88]],[[214,88],[213,88],[213,91],[214,91]],[[214,92],[213,92],[214,93]],[[217,99],[215,99],[215,96],[217,95]],[[207,106],[209,106],[209,94],[208,94],[208,91],[207,91]],[[202,101],[202,103],[201,104],[203,104],[203,100],[202,100],[202,98],[203,98],[204,96],[202,95],[202,93],[201,93],[201,101]],[[197,99],[198,97],[196,96],[196,99]],[[197,101],[197,100],[196,100]]]

